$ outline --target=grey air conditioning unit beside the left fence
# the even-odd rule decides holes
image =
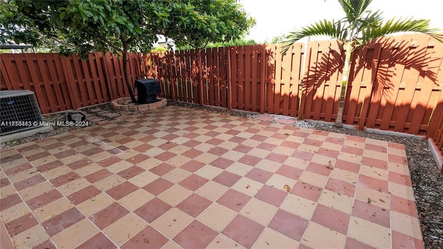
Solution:
[[[32,91],[0,91],[0,135],[39,127],[43,121]]]

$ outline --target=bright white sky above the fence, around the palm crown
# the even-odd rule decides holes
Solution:
[[[335,0],[240,0],[257,24],[247,39],[264,42],[288,34],[322,19],[339,19],[343,10]],[[430,19],[433,28],[443,30],[442,0],[372,0],[370,10],[383,11],[383,17],[414,17]]]

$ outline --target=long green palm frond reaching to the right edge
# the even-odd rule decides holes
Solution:
[[[361,29],[361,43],[370,42],[370,40],[399,32],[418,32],[431,35],[435,39],[443,42],[443,35],[436,28],[429,27],[429,20],[408,19],[390,19],[385,24],[378,26],[365,26]]]

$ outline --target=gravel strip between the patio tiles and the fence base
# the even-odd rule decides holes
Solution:
[[[205,111],[214,111],[217,113],[225,113],[232,116],[239,116],[250,119],[257,119],[259,115],[240,112],[240,111],[228,111],[226,109],[216,109],[211,107],[200,107],[195,104],[188,104],[184,102],[173,102],[172,105],[187,107],[192,109],[202,109]],[[107,116],[100,116],[93,109],[103,109],[105,111],[114,112],[120,114],[120,116],[132,116],[140,112],[123,112],[114,111],[111,104],[100,104],[94,107],[87,107],[81,109],[88,115],[98,116],[107,122],[107,120],[114,120],[116,118],[109,118]],[[426,140],[419,138],[410,138],[404,136],[392,136],[381,133],[372,133],[368,131],[336,128],[327,124],[317,124],[311,122],[305,122],[303,120],[296,120],[294,118],[285,116],[272,116],[274,119],[270,122],[277,122],[279,118],[291,119],[295,122],[292,124],[296,127],[303,127],[309,129],[317,129],[321,131],[330,131],[335,133],[343,133],[352,136],[359,136],[363,138],[372,138],[377,140],[383,140],[388,142],[396,142],[403,144],[406,147],[406,154],[408,156],[408,165],[410,169],[410,175],[413,181],[413,190],[415,201],[417,203],[417,210],[419,214],[419,221],[422,228],[422,234],[424,239],[424,245],[426,248],[443,248],[443,176],[437,169],[433,155],[428,147]],[[118,117],[117,117],[118,118]],[[64,121],[64,113],[55,113],[44,116],[46,122]],[[90,122],[89,126],[98,124],[98,122]],[[54,127],[55,129],[47,133],[37,133],[29,138],[22,138],[6,143],[1,143],[0,148],[12,147],[20,145],[25,142],[38,140],[50,136],[55,136],[60,133],[73,131],[75,129],[81,129],[82,127]]]

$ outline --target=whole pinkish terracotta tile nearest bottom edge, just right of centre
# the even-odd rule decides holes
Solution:
[[[251,248],[263,230],[263,225],[238,214],[226,226],[222,234],[246,248]]]

